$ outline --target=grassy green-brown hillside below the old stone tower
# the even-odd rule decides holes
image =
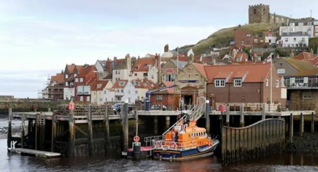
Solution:
[[[253,34],[259,34],[262,31],[269,30],[269,29],[278,33],[279,26],[280,24],[272,24],[272,23],[255,23],[255,24],[241,25],[243,30],[250,31]],[[209,46],[212,44],[215,44],[215,45],[221,44],[223,46],[227,46],[229,44],[229,40],[234,39],[234,30],[236,28],[238,28],[238,26],[220,29],[214,32],[208,38],[202,39],[197,44],[193,45],[192,46],[193,52],[195,54],[204,53],[206,50],[209,49]],[[186,47],[180,47],[180,49],[189,49],[189,46],[187,45]]]

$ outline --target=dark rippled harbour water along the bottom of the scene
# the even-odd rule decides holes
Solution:
[[[13,121],[18,131],[20,121]],[[187,162],[120,158],[42,159],[6,151],[7,120],[0,120],[0,172],[318,172],[318,155],[280,154],[223,168],[216,157]]]

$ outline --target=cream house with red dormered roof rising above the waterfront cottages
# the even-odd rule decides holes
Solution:
[[[133,80],[148,79],[157,82],[157,60],[156,59],[138,59],[131,70]]]

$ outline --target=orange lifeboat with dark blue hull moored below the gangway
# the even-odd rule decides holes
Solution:
[[[214,154],[219,141],[211,139],[206,129],[198,127],[196,121],[185,118],[166,132],[163,140],[157,140],[153,149],[153,157],[158,160],[183,161],[208,157]]]

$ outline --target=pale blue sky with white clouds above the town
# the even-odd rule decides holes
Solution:
[[[288,3],[287,3],[288,2]],[[301,2],[301,3],[300,3]],[[0,0],[0,95],[37,98],[66,64],[195,44],[248,22],[260,0]],[[264,2],[263,2],[264,3]],[[318,18],[318,0],[266,0],[270,12]],[[295,5],[297,4],[297,5]],[[302,7],[300,7],[302,6]]]

